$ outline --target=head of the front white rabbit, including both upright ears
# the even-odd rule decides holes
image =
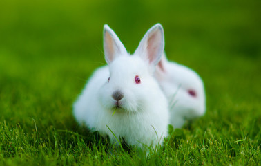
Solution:
[[[146,110],[153,102],[152,96],[158,93],[153,73],[163,50],[164,32],[160,24],[148,30],[133,55],[127,53],[114,31],[105,25],[104,55],[110,75],[99,90],[101,105],[110,111]]]

